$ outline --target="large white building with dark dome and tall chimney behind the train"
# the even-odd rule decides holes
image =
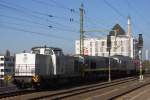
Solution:
[[[109,32],[111,35],[111,56],[113,55],[124,55],[134,57],[134,39],[131,36],[131,22],[128,17],[128,31],[125,32],[123,28],[116,24]],[[75,53],[80,54],[80,41],[75,41]],[[104,56],[108,57],[107,51],[107,37],[104,38],[85,38],[84,39],[84,55],[91,56]]]

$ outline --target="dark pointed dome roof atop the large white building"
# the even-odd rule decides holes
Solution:
[[[119,24],[114,25],[112,30],[116,30],[116,32],[117,32],[116,35],[126,35],[126,32]],[[109,34],[111,36],[115,36],[115,31],[110,31]]]

